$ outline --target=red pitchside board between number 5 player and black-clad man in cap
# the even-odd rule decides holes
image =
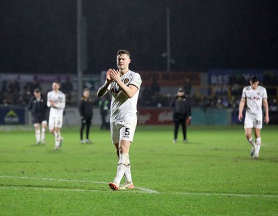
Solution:
[[[172,116],[170,108],[139,108],[138,125],[171,125]]]

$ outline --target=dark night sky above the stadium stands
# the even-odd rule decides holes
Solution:
[[[277,69],[277,1],[83,0],[88,71],[115,68],[131,51],[134,71],[165,71],[170,8],[172,71]],[[0,73],[76,73],[76,1],[2,0]]]

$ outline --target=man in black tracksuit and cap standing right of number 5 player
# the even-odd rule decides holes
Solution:
[[[171,107],[173,107],[173,122],[174,122],[174,141],[177,143],[179,132],[179,125],[183,131],[183,143],[187,143],[186,138],[186,122],[191,119],[191,107],[188,99],[184,95],[183,89],[179,89],[177,96],[172,100]]]

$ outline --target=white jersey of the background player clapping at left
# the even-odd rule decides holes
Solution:
[[[51,100],[55,102],[55,108],[51,107]],[[47,107],[51,107],[49,116],[63,115],[65,109],[65,93],[63,93],[62,91],[49,91],[49,93],[47,93]]]

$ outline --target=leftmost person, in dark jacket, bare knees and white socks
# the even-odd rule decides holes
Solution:
[[[42,96],[40,89],[34,89],[34,96],[28,102],[28,110],[31,111],[32,121],[35,127],[36,144],[45,143],[45,132],[47,130],[47,100]],[[40,129],[40,125],[42,128]]]

